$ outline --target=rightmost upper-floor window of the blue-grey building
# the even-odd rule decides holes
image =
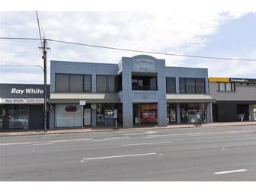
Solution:
[[[205,93],[204,78],[180,78],[180,93]]]

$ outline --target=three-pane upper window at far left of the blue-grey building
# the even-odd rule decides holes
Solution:
[[[56,74],[55,91],[82,92],[91,91],[91,75]]]

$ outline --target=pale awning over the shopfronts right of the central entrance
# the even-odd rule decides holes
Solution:
[[[213,103],[216,102],[209,94],[166,94],[168,103]]]

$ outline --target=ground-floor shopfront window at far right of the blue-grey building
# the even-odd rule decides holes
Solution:
[[[181,104],[181,123],[194,123],[199,116],[206,122],[206,104]]]

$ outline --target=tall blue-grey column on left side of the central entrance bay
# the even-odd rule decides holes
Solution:
[[[123,128],[133,127],[132,72],[129,64],[123,61],[122,66]]]

